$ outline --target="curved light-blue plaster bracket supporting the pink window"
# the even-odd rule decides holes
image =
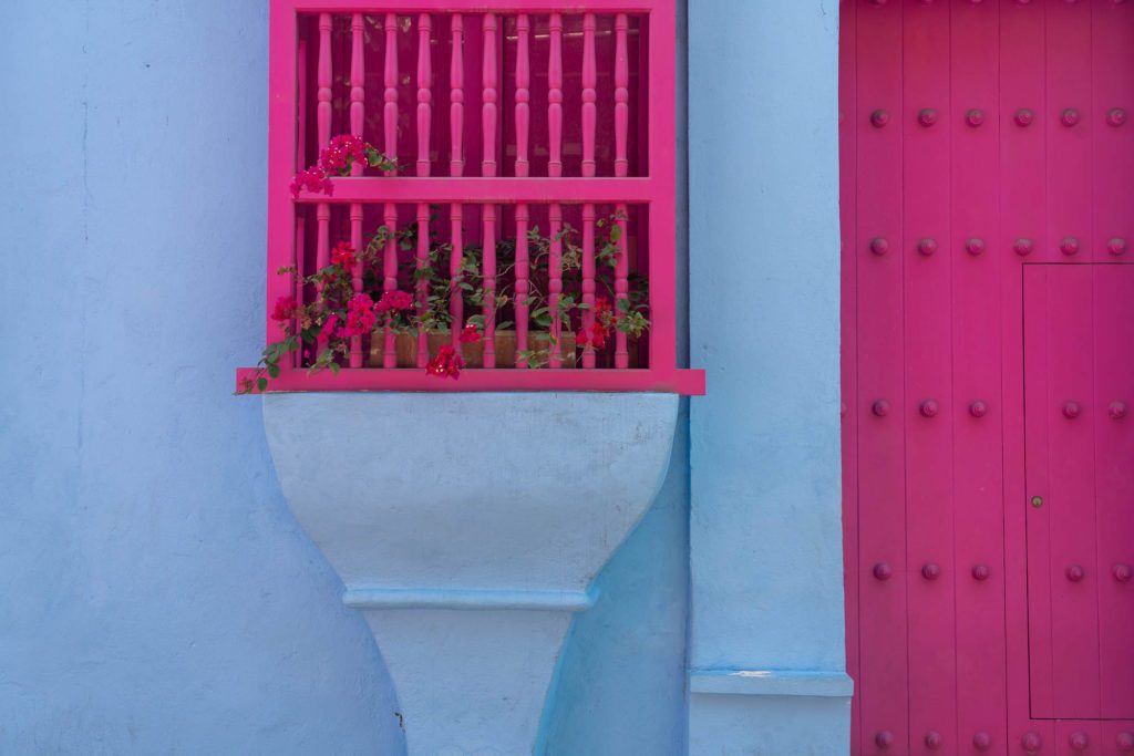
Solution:
[[[570,618],[665,479],[678,397],[263,401],[284,494],[374,632],[409,755],[531,754]]]

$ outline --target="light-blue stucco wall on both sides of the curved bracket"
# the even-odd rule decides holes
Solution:
[[[266,2],[2,3],[0,753],[399,754],[259,400]],[[599,578],[555,754],[684,750],[687,468]]]

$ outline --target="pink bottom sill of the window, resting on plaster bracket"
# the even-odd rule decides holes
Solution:
[[[237,387],[244,379],[255,380],[253,368],[236,373]],[[425,380],[423,380],[423,377]],[[705,374],[700,369],[466,369],[460,379],[449,381],[424,376],[416,368],[342,369],[336,375],[323,371],[284,369],[272,379],[266,393],[289,391],[655,391],[683,396],[704,396]]]

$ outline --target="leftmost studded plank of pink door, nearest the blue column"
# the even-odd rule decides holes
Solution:
[[[858,512],[863,753],[906,753],[902,3],[858,6]],[[885,254],[878,254],[883,252]]]

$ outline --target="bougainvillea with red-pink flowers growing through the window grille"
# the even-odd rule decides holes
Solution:
[[[383,171],[397,167],[361,138],[338,136],[322,151],[319,162],[294,178],[291,192],[295,196],[303,190],[330,195],[333,177],[348,176],[356,163]],[[602,294],[595,297],[594,318],[589,331],[582,329],[582,314],[590,308],[582,300],[583,249],[577,244],[577,232],[568,224],[555,239],[541,235],[539,228],[528,231],[527,292],[522,301],[517,301],[516,295],[517,244],[507,238],[494,245],[496,290],[491,301],[484,287],[483,248],[465,245],[459,270],[452,273],[449,270],[452,246],[435,238],[429,239],[429,252],[422,264],[405,255],[406,258],[399,260],[398,288],[387,290],[381,274],[383,252],[391,241],[403,250],[417,249],[416,224],[407,224],[396,232],[380,226],[363,249],[340,241],[331,249],[330,264],[310,275],[301,277],[294,266],[280,267],[277,273],[295,277],[296,291],[308,296],[302,297],[302,304],[295,295],[282,296],[272,303],[270,317],[279,323],[280,338],[264,349],[254,374],[242,381],[238,392],[266,390],[270,381],[280,374],[281,365],[290,364],[289,356],[294,352],[306,355],[299,363],[306,363],[311,373],[322,369],[337,373],[348,364],[352,348],[359,348],[366,338],[384,338],[388,332],[415,337],[423,332],[448,334],[454,328],[450,309],[454,296],[460,296],[476,314],[456,325],[460,329],[456,346],[441,345],[428,360],[425,373],[439,379],[459,379],[465,368],[459,347],[481,341],[485,315],[491,316],[497,331],[502,331],[513,326],[508,318],[515,317],[519,304],[527,308],[533,329],[547,334],[547,346],[542,348],[519,345],[517,360],[527,367],[548,365],[553,347],[562,345],[561,334],[565,333],[573,333],[576,345],[591,345],[595,350],[606,348],[616,331],[638,338],[650,328],[646,316],[649,291],[644,278],[631,274],[626,294],[616,295],[615,269],[620,254],[621,220],[623,216],[611,215],[595,222],[602,238],[596,239],[594,281]],[[558,297],[550,294],[552,241],[560,248],[561,294]],[[361,286],[354,275],[356,266],[363,273]],[[552,328],[556,321],[558,329]]]

